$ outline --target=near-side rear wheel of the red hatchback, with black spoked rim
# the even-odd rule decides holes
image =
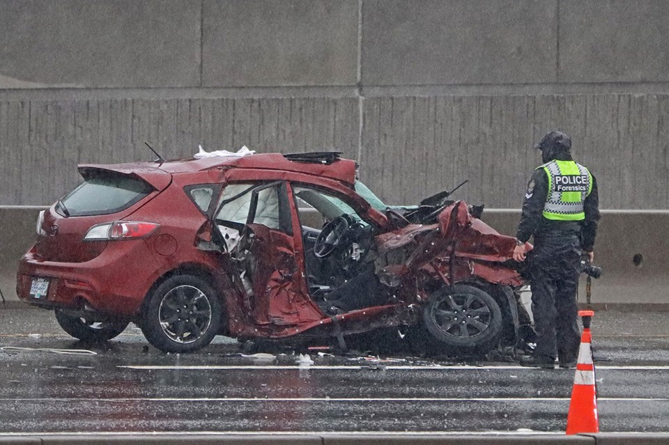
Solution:
[[[194,352],[211,343],[222,313],[217,292],[207,281],[175,275],[148,295],[141,331],[164,352]]]

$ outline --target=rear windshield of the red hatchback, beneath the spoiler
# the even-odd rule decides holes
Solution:
[[[152,191],[143,180],[121,173],[91,173],[59,201],[56,211],[70,217],[121,212]]]

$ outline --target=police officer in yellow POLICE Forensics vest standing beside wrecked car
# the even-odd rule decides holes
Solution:
[[[532,313],[537,347],[521,365],[554,368],[576,366],[578,330],[576,290],[582,251],[593,258],[599,197],[597,181],[585,166],[571,158],[571,139],[548,132],[535,148],[544,162],[528,183],[518,225],[514,259],[525,260],[525,242],[535,237],[530,253]]]

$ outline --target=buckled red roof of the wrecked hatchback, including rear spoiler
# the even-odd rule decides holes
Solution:
[[[313,159],[305,161],[305,159],[300,157],[282,155],[282,153],[261,153],[243,157],[212,156],[201,159],[174,159],[165,161],[162,164],[158,162],[129,162],[126,164],[85,164],[79,167],[93,167],[121,173],[130,173],[132,171],[138,175],[155,170],[171,174],[197,173],[211,169],[279,170],[324,176],[325,178],[353,185],[357,164],[351,159],[341,159],[339,157],[331,158],[321,163]]]

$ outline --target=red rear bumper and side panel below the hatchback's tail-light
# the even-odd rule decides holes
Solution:
[[[24,302],[47,309],[84,309],[132,318],[139,313],[160,267],[145,240],[109,243],[84,263],[39,260],[30,249],[21,258],[16,293]],[[34,279],[49,282],[46,295],[31,295]]]

